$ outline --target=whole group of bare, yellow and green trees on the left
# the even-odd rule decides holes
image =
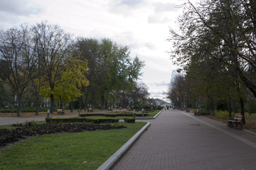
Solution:
[[[26,102],[37,107],[36,113],[48,99],[50,113],[56,105],[73,106],[75,101],[80,109],[121,106],[142,75],[144,62],[110,39],[74,39],[60,26],[43,21],[0,31],[0,65],[1,93],[10,94],[11,87],[20,116],[28,94],[36,96]]]

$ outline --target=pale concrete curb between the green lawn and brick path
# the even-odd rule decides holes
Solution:
[[[129,149],[129,147],[132,146],[132,144],[139,138],[142,133],[149,128],[150,123],[146,123],[144,127],[139,130],[131,139],[129,139],[120,149],[117,150],[112,156],[107,159],[106,162],[104,162],[97,170],[108,170],[111,169],[114,164],[117,163],[117,161],[122,157],[122,155]]]

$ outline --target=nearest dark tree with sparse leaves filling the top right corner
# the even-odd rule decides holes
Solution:
[[[212,0],[201,1],[195,6],[188,1],[185,6],[186,12],[179,18],[181,34],[171,30],[176,62],[189,67],[200,51],[198,62],[218,65],[218,71],[228,73],[222,76],[230,80],[229,84],[242,83],[256,97],[256,81],[250,77],[256,72],[255,12],[252,11],[255,3]]]

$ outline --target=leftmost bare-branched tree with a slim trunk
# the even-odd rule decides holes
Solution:
[[[37,67],[36,42],[32,41],[30,28],[21,25],[19,28],[11,28],[0,32],[0,57],[8,64],[7,83],[16,92],[18,110],[17,116],[21,116],[21,101],[23,91],[28,82],[35,76]]]

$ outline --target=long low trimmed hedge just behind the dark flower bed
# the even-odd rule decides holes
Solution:
[[[118,123],[118,118],[46,118],[46,123]]]

